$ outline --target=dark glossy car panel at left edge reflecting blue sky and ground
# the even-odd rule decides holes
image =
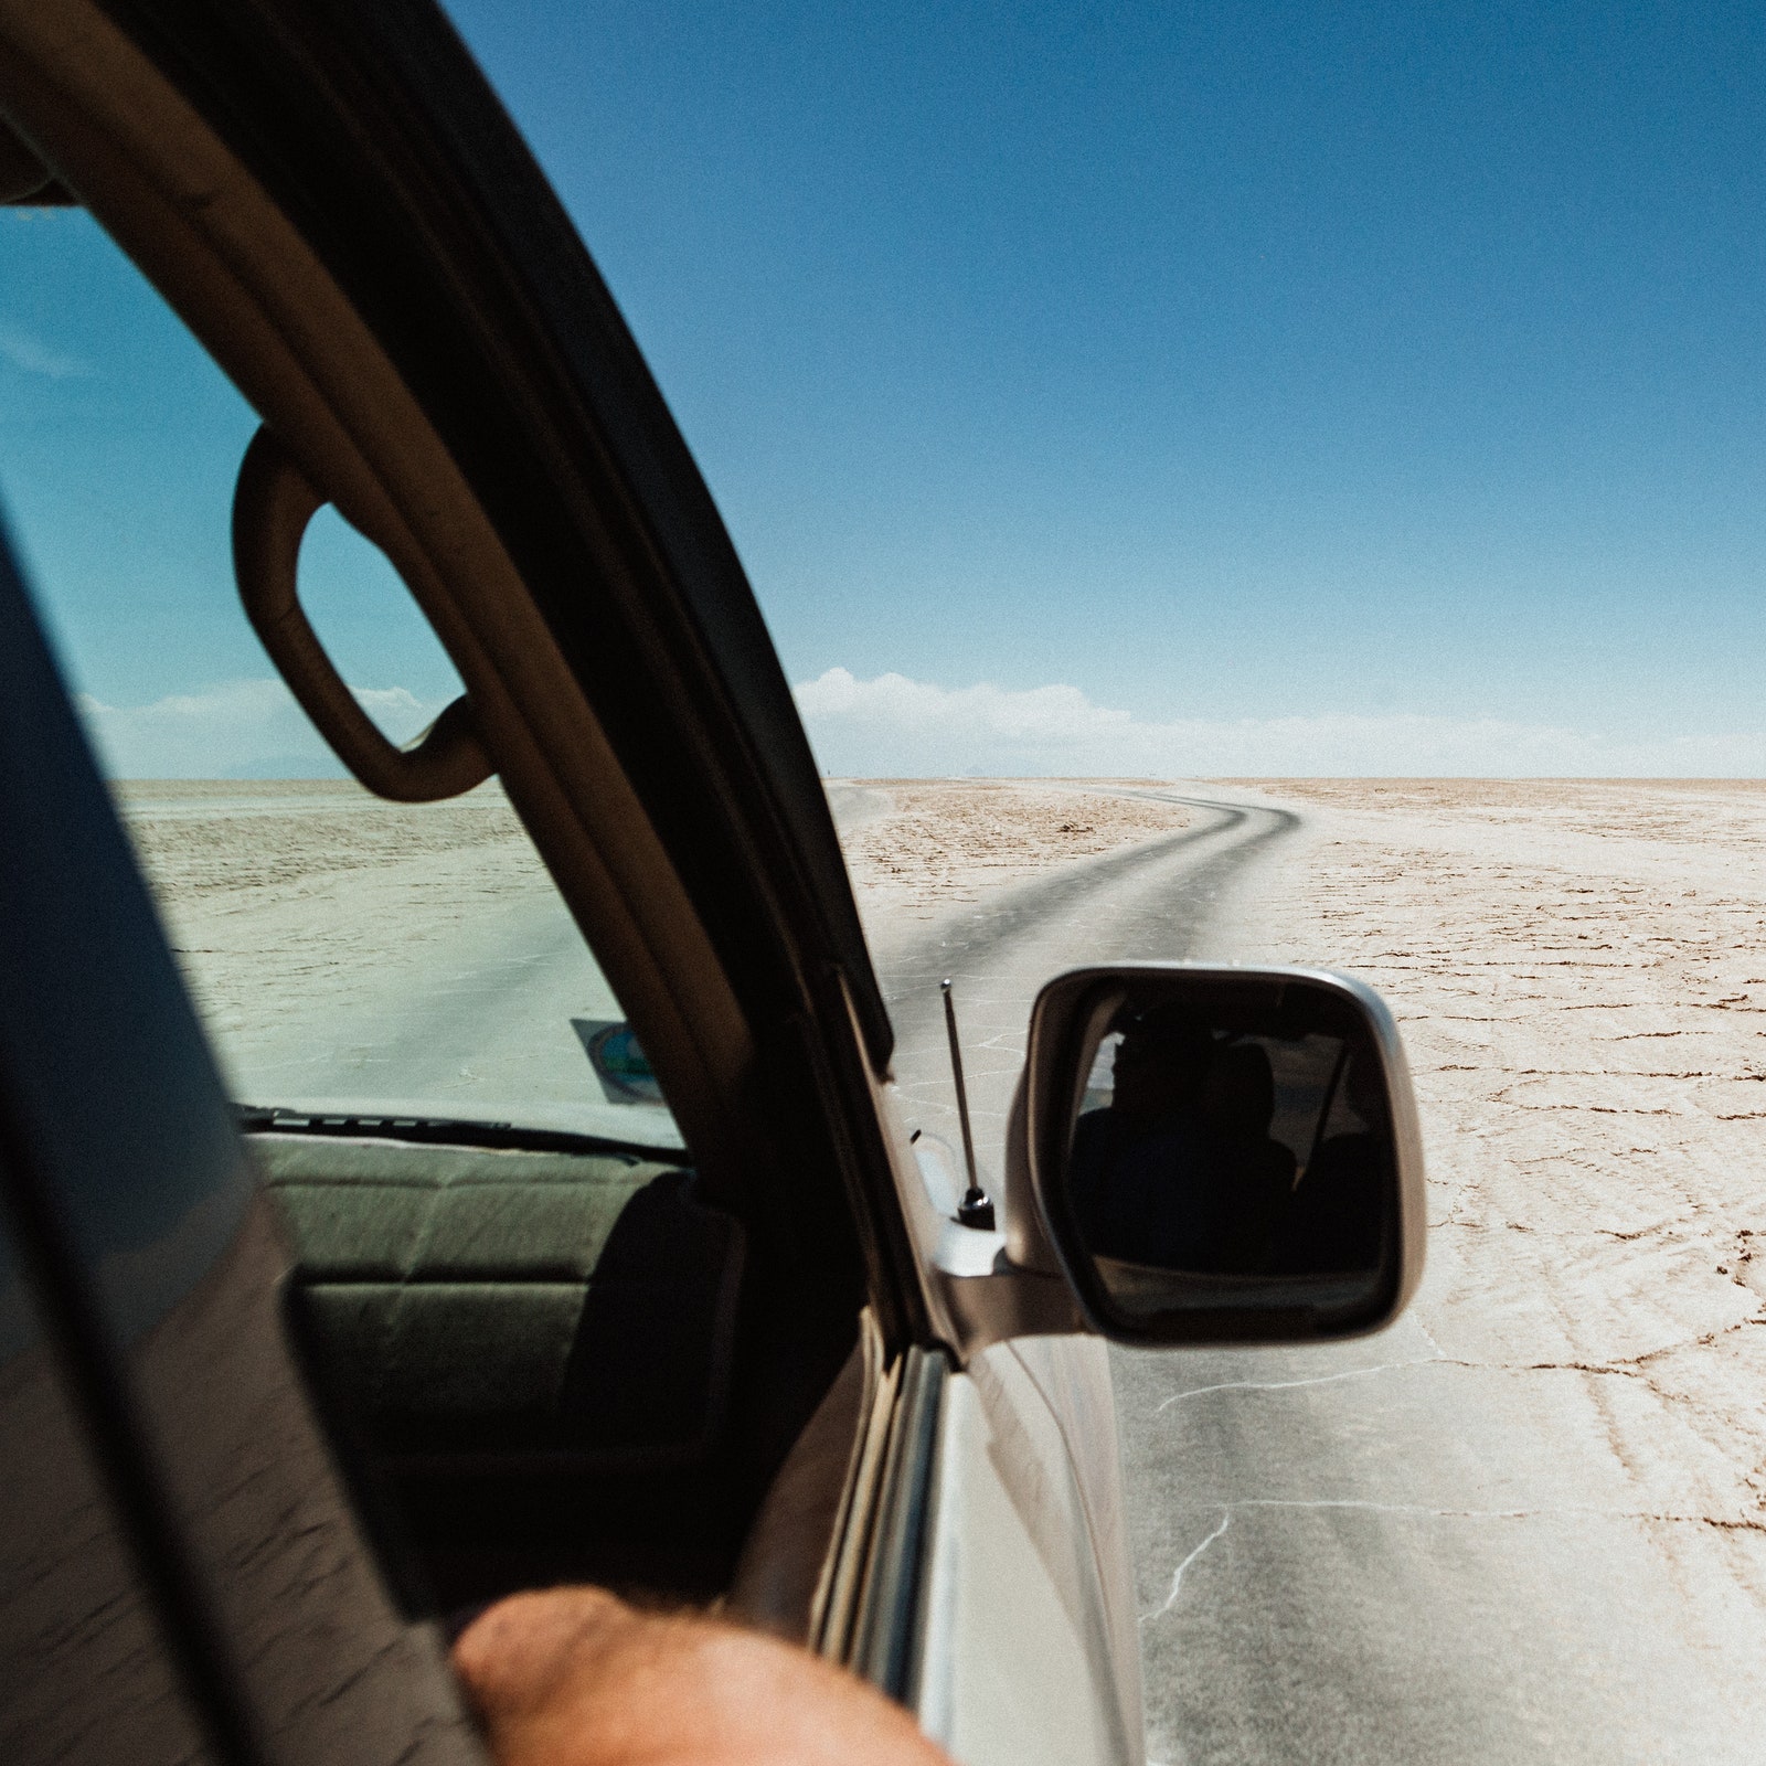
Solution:
[[[4,537],[0,816],[7,1757],[475,1759],[307,1404],[267,1201]]]

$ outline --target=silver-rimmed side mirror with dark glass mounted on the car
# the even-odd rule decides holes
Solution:
[[[1422,1277],[1404,1049],[1347,977],[1058,977],[1031,1010],[1023,1151],[1038,1224],[1118,1342],[1355,1337],[1397,1317]]]

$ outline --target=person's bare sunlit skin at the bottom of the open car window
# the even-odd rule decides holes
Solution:
[[[498,1766],[950,1766],[807,1649],[600,1588],[514,1595],[454,1644]]]

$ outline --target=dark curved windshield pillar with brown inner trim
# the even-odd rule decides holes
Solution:
[[[869,959],[860,966],[830,934],[830,915],[857,929],[851,890],[844,869],[837,887],[811,876],[747,724],[766,694],[733,685],[747,643],[789,705],[752,593],[586,251],[445,19],[427,5],[346,11],[9,0],[0,64],[21,132],[429,613],[517,814],[627,1000],[708,1176],[719,1180],[722,1164],[759,1180],[758,1190],[770,1185],[768,1204],[791,1233],[826,1240],[828,1264],[862,1264],[885,1340],[925,1340],[922,1275],[871,1100],[881,1005]],[[360,90],[364,64],[373,92]],[[256,131],[249,152],[235,145],[253,132],[242,113]],[[463,131],[482,147],[472,164]],[[404,215],[394,290],[381,249],[390,230],[350,233],[343,215],[323,214],[323,191],[302,184],[307,148],[339,140],[355,185],[374,184]],[[486,182],[500,182],[496,203]],[[307,231],[290,219],[297,212]],[[378,240],[371,263],[351,258],[367,249],[364,228]],[[374,302],[357,298],[364,284]],[[535,290],[547,291],[546,311]],[[597,293],[595,327],[560,337],[551,307],[585,290]],[[389,304],[447,306],[456,323],[440,339],[440,367],[434,327],[381,334]],[[593,360],[572,362],[565,344]],[[463,406],[468,355],[482,373]],[[609,381],[629,401],[648,399],[643,420],[618,434],[595,404]],[[482,457],[493,410],[528,438],[521,470],[507,447],[496,472]],[[480,442],[464,445],[466,431]],[[653,484],[639,468],[653,479],[668,452],[659,436],[671,440],[680,494],[698,500],[694,519],[646,502]],[[544,470],[526,470],[533,461]],[[535,479],[556,493],[539,512]],[[683,586],[694,546],[710,546],[706,525],[728,553],[713,562],[726,569],[724,600],[742,613],[731,620],[745,620],[740,641],[713,643],[698,616],[706,597],[696,606]],[[539,540],[560,533],[569,556],[535,563]],[[563,638],[560,572],[577,615]],[[526,623],[521,645],[487,659],[491,577],[496,618]],[[498,669],[517,676],[514,691]],[[609,673],[641,687],[650,715],[636,736],[600,715]],[[659,726],[682,736],[666,768]],[[809,819],[826,825],[837,860],[795,710],[786,729],[814,784]],[[857,1238],[851,1252],[839,1250],[842,1238]],[[846,1289],[848,1300],[858,1293],[851,1280]]]

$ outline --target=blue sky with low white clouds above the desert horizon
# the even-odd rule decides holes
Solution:
[[[1757,9],[450,11],[828,770],[1766,774]],[[0,224],[0,489],[127,768],[267,673],[249,415]],[[371,560],[309,581],[445,696]]]

